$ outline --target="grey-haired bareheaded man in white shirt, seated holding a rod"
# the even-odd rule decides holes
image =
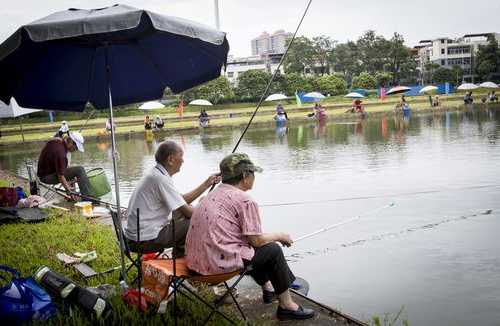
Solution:
[[[132,251],[161,251],[174,246],[176,257],[184,256],[184,241],[193,214],[190,205],[220,177],[209,176],[194,190],[182,195],[172,176],[184,163],[184,151],[173,141],[164,141],[155,153],[156,165],[146,173],[134,189],[127,209],[125,238]],[[139,209],[140,243],[137,242],[137,209]],[[175,212],[174,212],[175,211]],[[174,214],[172,214],[174,212]],[[175,241],[172,235],[175,219]]]

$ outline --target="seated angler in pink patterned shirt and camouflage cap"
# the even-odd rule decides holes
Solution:
[[[314,311],[302,308],[290,296],[295,276],[277,244],[290,246],[290,235],[264,233],[257,203],[246,193],[254,185],[254,172],[261,171],[246,154],[230,154],[221,161],[222,184],[201,200],[191,218],[187,266],[213,275],[251,265],[249,275],[262,287],[264,303],[277,296],[280,320],[311,318]]]

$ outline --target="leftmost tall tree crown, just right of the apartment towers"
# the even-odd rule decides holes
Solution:
[[[287,41],[287,46],[291,39]],[[316,49],[313,42],[305,36],[297,37],[283,62],[286,73],[303,74],[306,67],[312,67]]]

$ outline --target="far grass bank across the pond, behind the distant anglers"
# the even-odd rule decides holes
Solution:
[[[391,113],[394,108],[394,104],[397,99],[387,99],[384,102],[380,102],[378,99],[366,99],[365,109],[370,113],[381,113],[387,112]],[[409,103],[414,111],[431,110],[429,102],[425,97],[414,97],[409,98]],[[455,108],[462,104],[462,100],[457,96],[442,97],[441,106],[438,109]],[[342,102],[332,103],[325,101],[323,106],[326,107],[327,115],[329,120],[347,120],[353,119],[354,115],[345,113],[346,109],[350,106],[350,102],[343,99]],[[300,121],[304,120],[306,113],[310,112],[311,104],[304,104],[302,107],[297,105],[286,106],[288,116],[290,120]],[[249,117],[255,110],[255,107],[210,107],[209,113],[211,115],[210,126],[208,128],[222,128],[228,126],[239,126],[244,125],[248,122]],[[150,116],[155,116],[160,114],[165,120],[166,124],[164,130],[167,132],[177,132],[181,130],[196,130],[198,129],[197,111],[188,111],[181,119],[177,116],[175,112],[167,112],[165,110],[160,111],[148,111],[142,112],[135,110],[135,115],[119,117],[117,118],[117,134],[128,134],[144,132],[143,127],[143,117],[145,114]],[[232,117],[229,117],[229,114]],[[259,110],[258,115],[254,119],[254,123],[270,123],[273,121],[273,116],[275,114],[274,105],[264,106]],[[70,121],[70,126],[73,130],[79,130],[85,124],[86,116],[80,114],[79,120]],[[83,135],[88,137],[107,137],[107,133],[104,130],[105,118],[93,118],[91,119],[87,126],[83,129]],[[40,123],[31,122],[24,123],[23,128],[25,130],[25,141],[36,142],[36,141],[46,141],[51,138],[55,131],[59,128],[59,123]],[[21,133],[19,131],[18,125],[7,125],[2,127],[3,136],[0,138],[0,145],[10,145],[22,142]]]

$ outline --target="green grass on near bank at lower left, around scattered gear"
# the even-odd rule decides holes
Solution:
[[[41,223],[0,225],[1,264],[14,267],[23,276],[32,275],[40,266],[48,266],[82,286],[108,283],[115,285],[118,290],[119,272],[85,281],[76,271],[64,267],[56,258],[59,252],[72,254],[76,251],[96,250],[97,259],[88,263],[94,270],[99,272],[119,265],[119,250],[113,229],[110,226],[59,210],[48,210],[48,212],[49,218]],[[5,282],[2,281],[1,285],[5,285]],[[208,293],[205,295],[209,296]],[[205,318],[209,311],[205,306],[182,296],[179,296],[178,300],[179,325],[196,325]],[[59,299],[55,299],[55,302],[60,304]],[[74,309],[72,316],[68,313],[60,313],[58,317],[44,325],[158,325],[173,322],[168,313],[158,315],[150,311],[140,314],[136,309],[127,307],[119,295],[113,297],[110,302],[113,306],[113,314],[105,321],[94,320],[83,311]],[[210,324],[225,325],[226,323],[219,316],[214,316]]]

